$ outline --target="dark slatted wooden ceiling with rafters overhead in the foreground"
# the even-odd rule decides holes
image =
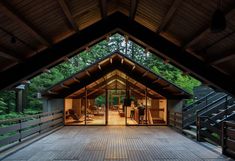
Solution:
[[[0,89],[118,31],[187,74],[235,94],[235,1],[222,0],[227,27],[220,33],[210,31],[216,5],[217,0],[1,0]]]

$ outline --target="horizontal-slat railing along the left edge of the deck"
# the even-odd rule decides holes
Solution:
[[[21,142],[63,125],[63,111],[47,112],[23,118],[0,121],[0,147]]]

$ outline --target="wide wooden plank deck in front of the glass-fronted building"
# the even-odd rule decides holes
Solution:
[[[66,126],[4,161],[222,161],[169,127]]]

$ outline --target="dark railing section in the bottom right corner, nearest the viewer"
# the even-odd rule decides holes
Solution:
[[[224,121],[222,125],[222,152],[235,158],[235,122]]]

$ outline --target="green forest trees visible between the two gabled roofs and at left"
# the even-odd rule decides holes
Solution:
[[[126,37],[119,34],[114,34],[106,40],[87,47],[86,50],[32,78],[29,81],[30,84],[27,93],[26,107],[24,107],[24,113],[34,114],[42,110],[42,101],[37,98],[38,93],[63,79],[68,78],[74,73],[84,69],[114,51],[120,51],[132,60],[143,65],[144,67],[147,67],[154,73],[161,75],[163,78],[188,91],[189,93],[193,93],[193,89],[201,84],[200,81],[189,75],[185,75],[178,68],[150,53],[145,48],[142,48],[136,43],[128,40]],[[9,116],[3,114],[11,113],[14,115],[15,106],[15,92],[1,91],[0,119],[3,118],[3,116],[4,118]]]

